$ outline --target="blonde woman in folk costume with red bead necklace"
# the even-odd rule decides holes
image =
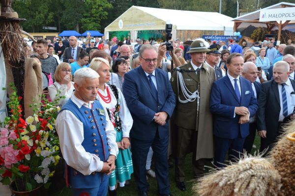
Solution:
[[[133,120],[126,105],[122,92],[115,85],[108,85],[110,80],[110,64],[103,58],[97,58],[89,66],[99,74],[99,87],[96,98],[106,107],[109,118],[117,131],[117,144],[119,154],[116,160],[116,170],[113,171],[109,179],[109,194],[116,196],[117,182],[120,187],[125,185],[125,181],[130,179],[133,173],[132,158],[130,153],[129,132]]]

